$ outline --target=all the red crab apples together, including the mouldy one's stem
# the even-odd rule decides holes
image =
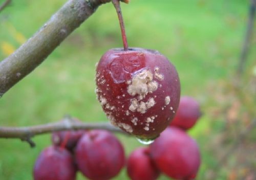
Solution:
[[[140,142],[154,142],[135,149],[125,161],[122,144],[109,131],[54,132],[53,145],[35,162],[34,179],[74,180],[80,171],[89,179],[106,180],[125,164],[133,180],[154,180],[161,172],[175,179],[194,179],[200,151],[185,130],[201,116],[199,104],[190,97],[180,99],[178,73],[165,56],[128,47],[119,1],[112,3],[124,46],[107,51],[96,64],[97,99],[114,126]]]

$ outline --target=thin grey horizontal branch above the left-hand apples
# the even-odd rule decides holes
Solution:
[[[124,133],[123,130],[112,126],[110,123],[82,123],[72,118],[64,118],[62,121],[27,127],[0,127],[0,138],[18,138],[24,141],[44,133],[62,130],[79,129],[105,129],[112,132]]]

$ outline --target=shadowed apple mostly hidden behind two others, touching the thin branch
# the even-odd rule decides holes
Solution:
[[[78,140],[81,138],[85,130],[69,130],[57,131],[52,133],[52,143],[56,146],[64,146],[66,149],[73,151]]]

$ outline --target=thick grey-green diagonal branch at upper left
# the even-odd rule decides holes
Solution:
[[[69,0],[40,30],[0,62],[0,97],[32,72],[72,31],[111,0]]]

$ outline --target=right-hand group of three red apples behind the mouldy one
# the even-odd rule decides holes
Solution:
[[[185,130],[200,118],[199,103],[181,97],[174,120],[149,147],[135,149],[127,161],[127,173],[133,180],[157,179],[160,172],[174,179],[194,179],[200,167],[200,150]]]

